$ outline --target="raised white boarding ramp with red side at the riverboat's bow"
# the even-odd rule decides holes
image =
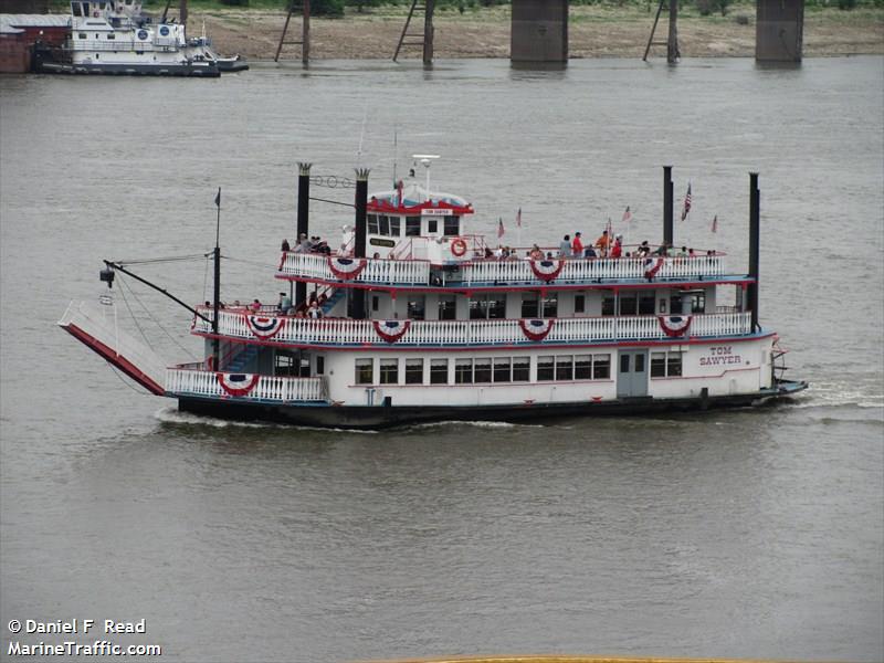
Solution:
[[[71,302],[59,326],[150,393],[165,396],[167,362],[119,328],[113,303]]]

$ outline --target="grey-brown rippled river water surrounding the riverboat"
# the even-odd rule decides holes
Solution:
[[[2,623],[146,617],[187,661],[884,659],[883,65],[0,78]],[[208,249],[218,186],[224,252],[251,261],[225,264],[224,292],[273,298],[296,161],[349,175],[364,118],[373,186],[392,180],[396,128],[399,173],[442,154],[433,181],[474,200],[476,232],[522,207],[523,242],[591,235],[625,204],[631,241],[659,240],[673,164],[676,198],[694,193],[676,241],[745,269],[759,170],[761,317],[812,389],[690,417],[292,429],[180,414],[53,328],[101,292],[101,259]],[[313,208],[324,235],[346,222]],[[206,299],[203,264],[145,274]]]

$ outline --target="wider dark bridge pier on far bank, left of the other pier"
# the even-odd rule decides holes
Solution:
[[[509,61],[568,62],[568,0],[513,0]]]

